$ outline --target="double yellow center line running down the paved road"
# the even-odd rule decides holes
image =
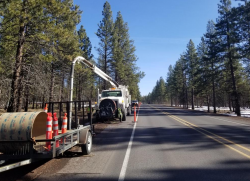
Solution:
[[[150,106],[150,107],[152,107],[152,106]],[[156,109],[156,110],[158,110],[158,111],[160,111],[160,112],[162,112],[162,110],[160,110],[160,109],[157,109],[157,108],[155,108],[155,107],[153,107],[153,108]],[[208,135],[208,134],[206,134],[206,133],[209,133],[209,134],[211,134],[211,135],[213,135],[213,136],[215,136],[215,137],[217,137],[217,138],[220,138],[220,139],[222,139],[222,140],[224,140],[224,141],[227,141],[227,142],[229,142],[229,143],[231,143],[231,144],[233,144],[233,145],[235,145],[235,146],[238,146],[238,147],[240,147],[240,148],[242,148],[242,149],[244,149],[244,150],[247,150],[247,151],[249,151],[249,152],[250,152],[250,149],[248,149],[248,148],[246,148],[246,147],[244,147],[244,146],[242,146],[242,145],[239,145],[239,144],[237,144],[237,143],[235,143],[235,142],[233,142],[233,141],[230,141],[230,140],[228,140],[228,139],[226,139],[226,138],[224,138],[224,137],[222,137],[222,136],[219,136],[219,135],[217,135],[217,134],[211,133],[210,131],[207,131],[207,130],[201,128],[201,127],[198,127],[197,125],[192,124],[192,123],[190,123],[190,122],[188,122],[188,121],[186,121],[186,120],[184,120],[184,119],[181,119],[181,118],[179,118],[179,117],[177,117],[177,116],[174,116],[174,115],[172,115],[172,114],[170,114],[170,113],[168,113],[168,112],[162,112],[162,113],[168,115],[170,118],[172,118],[172,119],[178,121],[179,123],[182,123],[183,125],[185,125],[185,126],[191,128],[191,129],[196,130],[197,132],[199,132],[199,133],[201,133],[201,134],[207,136],[208,138],[210,138],[210,139],[212,139],[212,140],[214,140],[214,141],[216,141],[216,142],[218,142],[218,143],[221,143],[221,144],[223,144],[224,146],[230,148],[231,150],[234,150],[235,152],[237,152],[237,153],[239,153],[239,154],[241,154],[241,155],[243,155],[243,156],[245,156],[245,157],[247,157],[247,158],[250,159],[250,156],[249,156],[249,155],[247,155],[247,154],[245,154],[245,153],[243,153],[243,152],[237,150],[236,148],[234,148],[234,147],[232,147],[232,146],[229,146],[228,144],[223,143],[222,141],[220,141],[220,140],[218,140],[218,139],[216,139],[216,138],[214,138],[214,137],[212,137],[212,136],[210,136],[210,135]],[[202,131],[201,131],[201,130],[202,130]],[[206,133],[204,133],[203,131],[206,132]]]

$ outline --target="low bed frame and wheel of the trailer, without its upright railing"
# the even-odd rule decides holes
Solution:
[[[56,142],[59,141],[59,147]],[[38,139],[30,141],[1,141],[4,144],[22,143],[23,148],[14,154],[0,154],[0,172],[4,172],[19,166],[27,165],[42,159],[52,159],[62,155],[65,151],[78,145],[82,149],[82,154],[90,154],[92,147],[91,126],[81,126],[75,130],[69,130],[67,133],[53,137],[53,139]],[[51,149],[46,148],[46,142],[51,143]],[[36,150],[34,150],[36,147]],[[8,161],[16,160],[14,163]],[[18,161],[17,161],[18,160]]]

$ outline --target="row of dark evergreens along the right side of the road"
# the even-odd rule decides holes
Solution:
[[[218,14],[207,22],[198,45],[187,42],[166,68],[166,80],[160,77],[144,102],[208,106],[214,113],[216,107],[229,107],[238,116],[240,108],[250,106],[250,2],[232,7],[230,0],[220,0]]]

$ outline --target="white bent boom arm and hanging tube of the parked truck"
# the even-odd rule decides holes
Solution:
[[[101,69],[96,67],[94,64],[86,60],[84,57],[78,56],[76,57],[71,65],[71,73],[70,73],[70,101],[73,101],[73,82],[74,82],[74,68],[75,63],[81,62],[82,64],[86,65],[88,68],[90,68],[94,73],[99,75],[104,80],[108,81],[112,86],[115,88],[119,87],[119,84],[113,80],[110,76],[108,76],[106,73],[104,73]],[[69,130],[71,130],[71,120],[72,120],[72,103],[70,102],[70,110],[69,110]]]

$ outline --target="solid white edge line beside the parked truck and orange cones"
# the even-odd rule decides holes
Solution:
[[[127,151],[126,151],[126,154],[125,154],[125,158],[123,160],[122,169],[121,169],[118,181],[124,181],[125,176],[126,176],[126,171],[127,171],[127,167],[128,167],[129,156],[130,156],[131,147],[132,147],[132,144],[133,144],[133,139],[134,139],[134,134],[135,134],[135,128],[136,128],[137,121],[138,121],[138,116],[139,116],[139,110],[140,110],[140,108],[138,109],[138,113],[137,113],[137,117],[136,117],[136,122],[134,124],[133,131],[132,131],[129,143],[128,143],[128,148],[127,148]]]

